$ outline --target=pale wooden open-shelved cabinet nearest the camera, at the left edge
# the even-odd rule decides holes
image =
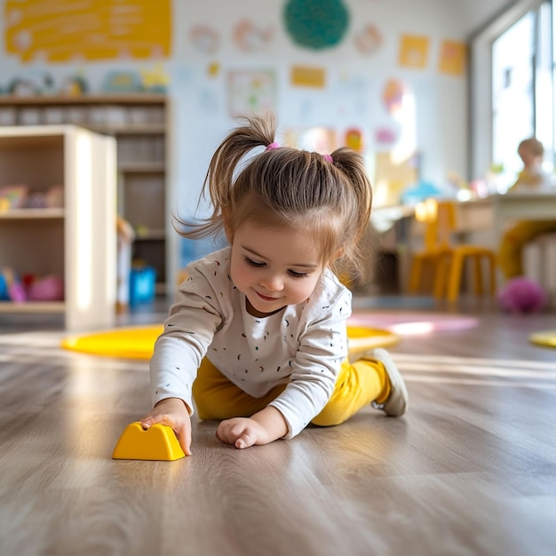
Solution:
[[[115,139],[75,125],[0,127],[0,188],[37,200],[0,204],[0,270],[64,282],[63,300],[4,300],[0,312],[64,313],[68,330],[114,325],[115,159]]]

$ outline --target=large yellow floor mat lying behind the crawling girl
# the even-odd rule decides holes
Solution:
[[[70,336],[62,340],[61,346],[92,355],[148,360],[153,354],[155,340],[162,331],[162,324],[119,328]],[[366,326],[348,326],[347,335],[350,354],[374,347],[395,346],[400,342],[400,337],[393,332]]]

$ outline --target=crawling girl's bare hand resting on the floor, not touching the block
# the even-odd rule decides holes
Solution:
[[[282,413],[268,406],[252,417],[234,417],[218,425],[218,440],[233,444],[235,448],[249,448],[254,444],[268,444],[282,438],[288,432],[288,425]]]

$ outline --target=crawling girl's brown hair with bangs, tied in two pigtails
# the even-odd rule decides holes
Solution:
[[[274,115],[245,119],[210,160],[203,196],[210,195],[212,214],[196,222],[176,218],[179,234],[200,238],[225,226],[234,232],[246,221],[291,226],[314,239],[323,264],[364,277],[361,239],[369,226],[372,190],[361,155],[347,147],[331,155],[278,147]],[[255,147],[266,148],[247,158]]]

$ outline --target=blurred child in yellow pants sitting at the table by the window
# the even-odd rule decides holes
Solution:
[[[508,189],[508,195],[520,193],[554,193],[551,176],[542,167],[544,147],[535,138],[524,139],[518,147],[523,170],[517,181]],[[522,276],[523,248],[537,235],[556,231],[556,216],[552,220],[527,220],[512,226],[502,237],[499,265],[506,280]]]

